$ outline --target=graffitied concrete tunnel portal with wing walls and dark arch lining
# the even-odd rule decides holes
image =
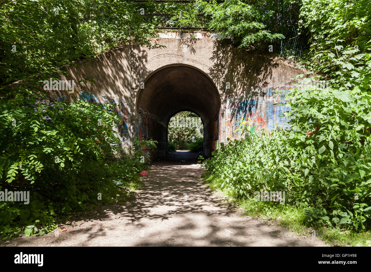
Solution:
[[[293,84],[287,81],[302,70],[268,53],[236,49],[229,39],[212,33],[194,36],[180,39],[177,33],[165,33],[156,40],[165,47],[123,46],[73,63],[64,68],[70,75],[62,79],[74,80],[75,92],[54,95],[64,101],[116,103],[121,144],[130,145],[138,135],[160,140],[154,155],[166,152],[166,126],[179,110],[194,111],[203,119],[206,155],[228,137],[242,137],[241,125],[251,132],[285,125],[279,115],[288,108],[274,104],[285,102]],[[95,78],[95,83],[78,83],[84,77]],[[279,96],[274,90],[280,90]],[[164,102],[167,98],[169,103]]]

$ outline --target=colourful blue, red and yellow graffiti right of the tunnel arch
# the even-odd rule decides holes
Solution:
[[[281,89],[275,92],[268,89],[266,95],[258,102],[256,100],[243,100],[235,102],[227,99],[226,136],[230,139],[240,139],[244,131],[251,134],[262,130],[272,130],[276,127],[287,127],[287,117],[280,117],[285,111],[290,110],[286,106],[285,95],[289,89]],[[283,105],[275,105],[283,103]]]

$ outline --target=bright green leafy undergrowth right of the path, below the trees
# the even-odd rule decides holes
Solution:
[[[287,94],[290,130],[262,130],[221,144],[206,168],[239,197],[261,189],[287,191],[286,202],[303,206],[308,222],[366,229],[371,95],[358,88],[319,89],[316,80],[305,78]]]

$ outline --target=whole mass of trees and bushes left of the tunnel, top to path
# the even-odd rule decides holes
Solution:
[[[111,107],[62,103],[42,88],[73,61],[124,44],[150,46],[154,23],[139,14],[140,5],[119,0],[0,4],[0,190],[30,192],[28,205],[1,202],[1,239],[22,231],[46,233],[43,226],[54,228],[56,216],[112,202],[122,194],[115,183],[129,184],[148,161],[140,148],[155,142],[122,152],[113,130],[119,119]]]

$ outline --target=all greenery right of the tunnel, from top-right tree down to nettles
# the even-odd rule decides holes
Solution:
[[[369,1],[303,0],[301,16],[313,72],[298,75],[286,95],[290,129],[246,131],[244,140],[221,144],[206,168],[240,197],[286,191],[309,223],[370,229]]]

